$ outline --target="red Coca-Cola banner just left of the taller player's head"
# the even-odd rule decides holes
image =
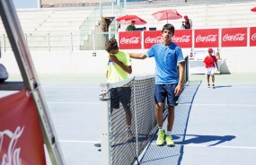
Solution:
[[[144,31],[144,48],[163,42],[162,30]]]

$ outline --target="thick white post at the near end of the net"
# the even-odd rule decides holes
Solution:
[[[110,154],[110,97],[109,83],[100,84],[100,100],[101,100],[101,121],[102,121],[102,165],[111,165]]]

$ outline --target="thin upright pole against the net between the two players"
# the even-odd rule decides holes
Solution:
[[[133,81],[133,98],[134,98],[134,117],[135,117],[135,137],[136,137],[136,160],[138,163],[138,130],[137,130],[137,98],[136,98],[136,80]]]

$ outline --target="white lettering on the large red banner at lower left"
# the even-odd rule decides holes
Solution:
[[[0,152],[5,152],[2,158],[2,164],[13,164],[13,165],[22,165],[22,159],[20,157],[21,148],[15,148],[18,139],[21,137],[22,132],[24,130],[23,126],[22,128],[18,126],[15,130],[15,132],[11,132],[10,130],[4,130],[4,132],[0,132]],[[2,145],[4,143],[4,136],[7,136],[11,139],[8,150],[4,149],[2,151]]]

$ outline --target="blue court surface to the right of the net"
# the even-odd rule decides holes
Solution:
[[[255,165],[255,96],[256,84],[223,84],[214,90],[190,83],[175,110],[176,146],[156,146],[155,135],[141,164]]]

